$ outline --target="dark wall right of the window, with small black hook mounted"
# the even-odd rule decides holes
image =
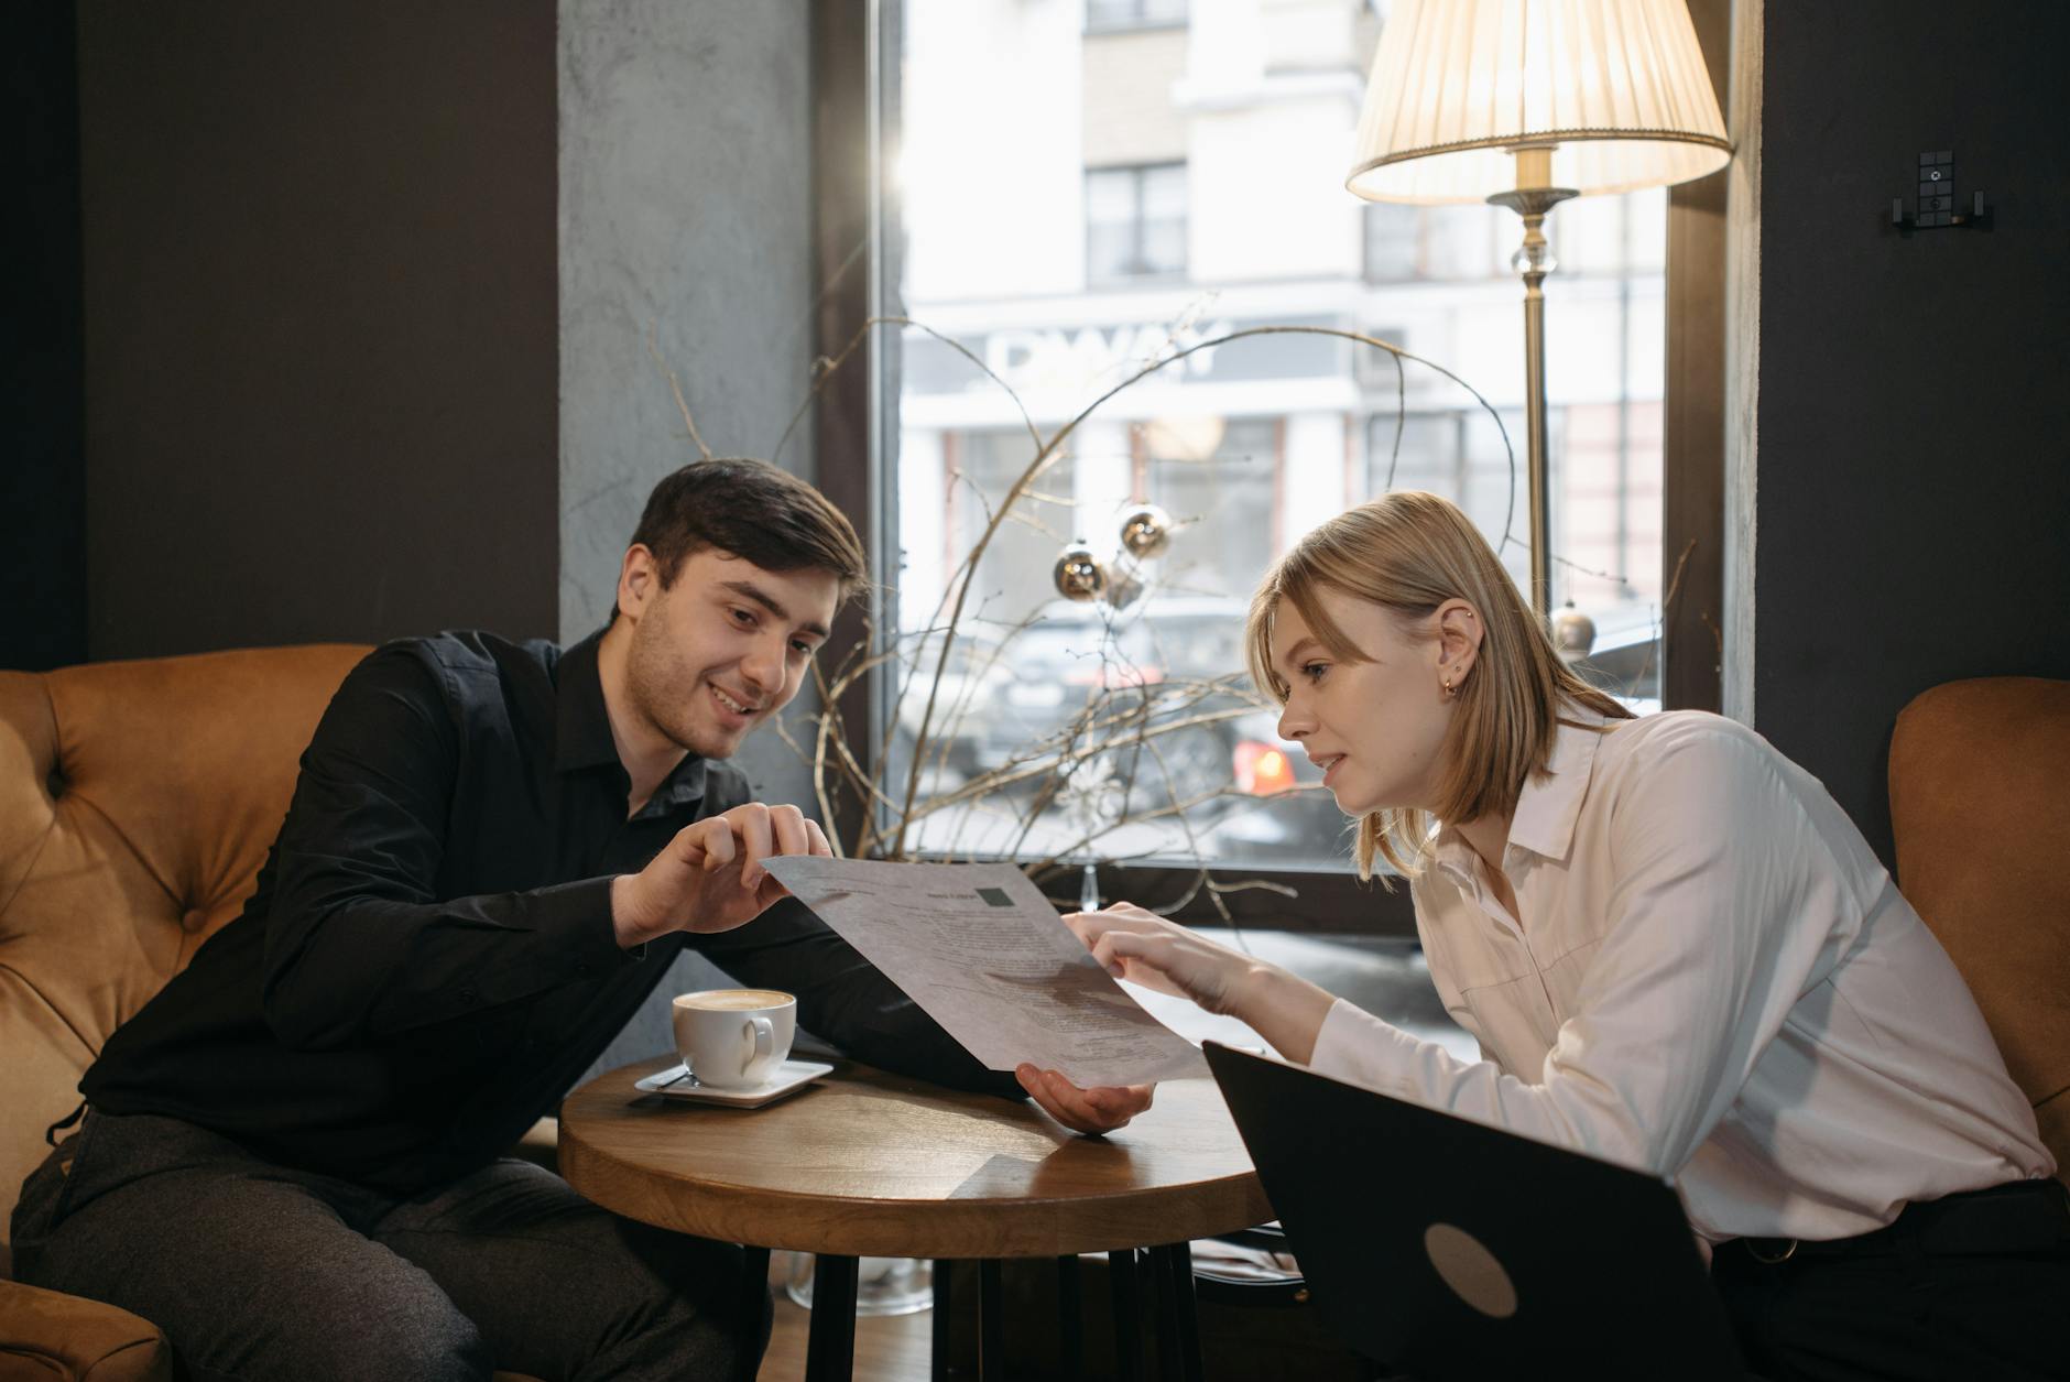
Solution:
[[[1890,726],[2070,677],[2058,4],[1766,6],[1753,720],[1890,859]],[[1888,230],[1923,149],[1993,228]]]

